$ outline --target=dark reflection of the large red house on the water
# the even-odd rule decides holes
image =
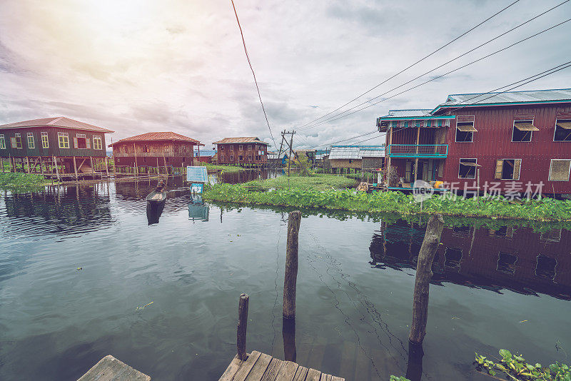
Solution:
[[[382,224],[373,236],[373,264],[415,268],[425,227]],[[518,293],[545,293],[571,300],[571,231],[533,233],[531,228],[498,230],[445,228],[433,263],[433,281]]]

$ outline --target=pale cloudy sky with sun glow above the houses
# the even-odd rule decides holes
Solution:
[[[401,86],[565,1],[520,0],[346,108],[392,98],[307,125],[513,1],[235,4],[277,146],[285,129],[297,131],[298,148],[324,148],[375,131],[376,118],[390,109],[434,108],[448,94],[492,91],[571,61],[570,21],[397,94],[571,18],[569,1]],[[571,88],[571,68],[517,90],[541,88]],[[276,149],[229,0],[0,0],[0,124],[51,116],[109,128],[108,143],[174,131],[205,148],[224,137],[258,136]],[[373,133],[342,143],[383,142]]]

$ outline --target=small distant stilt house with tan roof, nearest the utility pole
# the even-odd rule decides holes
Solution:
[[[213,144],[218,146],[218,164],[239,166],[265,166],[268,163],[268,143],[256,137],[223,138]]]

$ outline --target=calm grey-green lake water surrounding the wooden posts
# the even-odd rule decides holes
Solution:
[[[169,182],[181,190],[151,225],[150,181],[0,195],[0,380],[76,380],[109,354],[153,380],[218,380],[236,353],[241,293],[248,350],[292,355],[288,210],[201,204]],[[303,212],[300,365],[347,380],[407,369],[413,380],[489,380],[474,352],[570,362],[570,231],[501,226],[445,228],[424,356],[409,356],[423,234],[388,216]]]

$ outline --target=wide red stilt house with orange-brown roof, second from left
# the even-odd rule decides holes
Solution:
[[[113,147],[116,166],[181,167],[194,165],[194,147],[200,141],[173,132],[148,132],[121,139]]]

